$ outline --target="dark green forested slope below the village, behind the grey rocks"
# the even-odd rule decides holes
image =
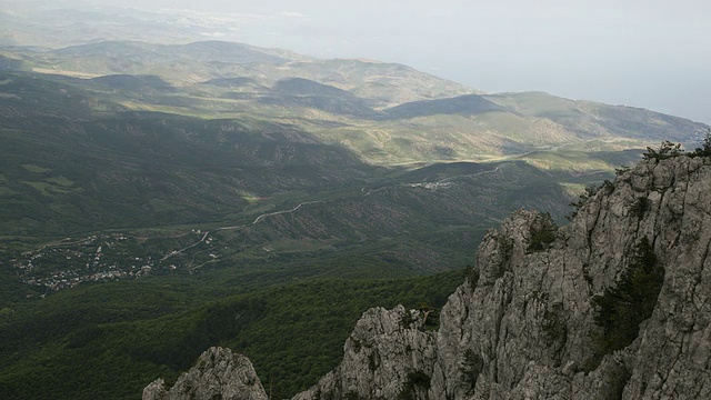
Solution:
[[[136,399],[210,346],[250,357],[276,397],[334,368],[370,307],[440,308],[464,271],[398,280],[320,279],[200,303],[187,283],[116,282],[23,303],[0,323],[0,397]]]

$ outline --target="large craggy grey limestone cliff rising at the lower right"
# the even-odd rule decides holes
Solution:
[[[710,244],[711,159],[645,160],[567,227],[517,211],[489,232],[438,330],[367,311],[296,399],[711,398]]]

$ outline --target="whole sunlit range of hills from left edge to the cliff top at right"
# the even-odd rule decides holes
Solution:
[[[487,161],[540,150],[620,151],[662,139],[694,146],[707,129],[643,109],[540,92],[482,94],[405,66],[319,60],[242,43],[104,41],[46,50],[6,47],[0,56],[9,69],[21,66],[42,73],[112,80],[118,78],[106,77],[153,76],[170,90],[151,92],[147,87],[146,92],[113,93],[113,109],[298,121],[319,140],[381,166]],[[111,94],[87,82],[72,84],[94,97]],[[581,160],[578,154],[572,158]],[[560,168],[551,159],[532,162]]]

